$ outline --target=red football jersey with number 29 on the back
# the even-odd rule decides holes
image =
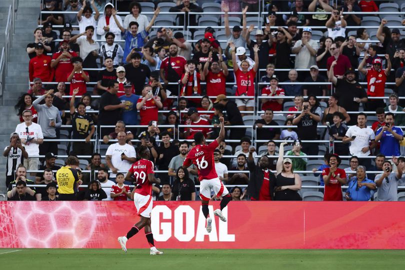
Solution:
[[[133,177],[135,178],[135,193],[144,196],[152,194],[152,183],[149,182],[147,174],[154,173],[153,167],[152,161],[143,158],[131,165],[129,171],[133,173]]]

